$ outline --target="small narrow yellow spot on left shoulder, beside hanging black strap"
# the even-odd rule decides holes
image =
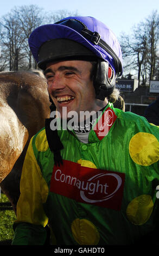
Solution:
[[[42,130],[35,139],[35,146],[38,151],[45,152],[48,150],[49,145],[46,138],[45,130]]]

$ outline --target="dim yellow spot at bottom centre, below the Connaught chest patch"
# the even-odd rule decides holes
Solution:
[[[95,225],[86,219],[75,219],[71,225],[74,240],[79,245],[97,245],[100,239]]]

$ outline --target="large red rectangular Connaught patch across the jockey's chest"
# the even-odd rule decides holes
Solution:
[[[120,210],[125,174],[81,166],[63,160],[53,168],[50,191],[77,202]]]

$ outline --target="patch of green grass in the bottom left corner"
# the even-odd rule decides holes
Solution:
[[[5,204],[9,203],[5,194],[0,194],[0,245],[11,245],[14,236],[12,224],[16,219],[15,212]],[[7,210],[5,210],[7,209]]]

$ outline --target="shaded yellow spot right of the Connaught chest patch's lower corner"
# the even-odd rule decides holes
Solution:
[[[134,198],[126,209],[126,215],[129,221],[135,225],[143,225],[151,216],[154,203],[151,196],[142,194]]]

